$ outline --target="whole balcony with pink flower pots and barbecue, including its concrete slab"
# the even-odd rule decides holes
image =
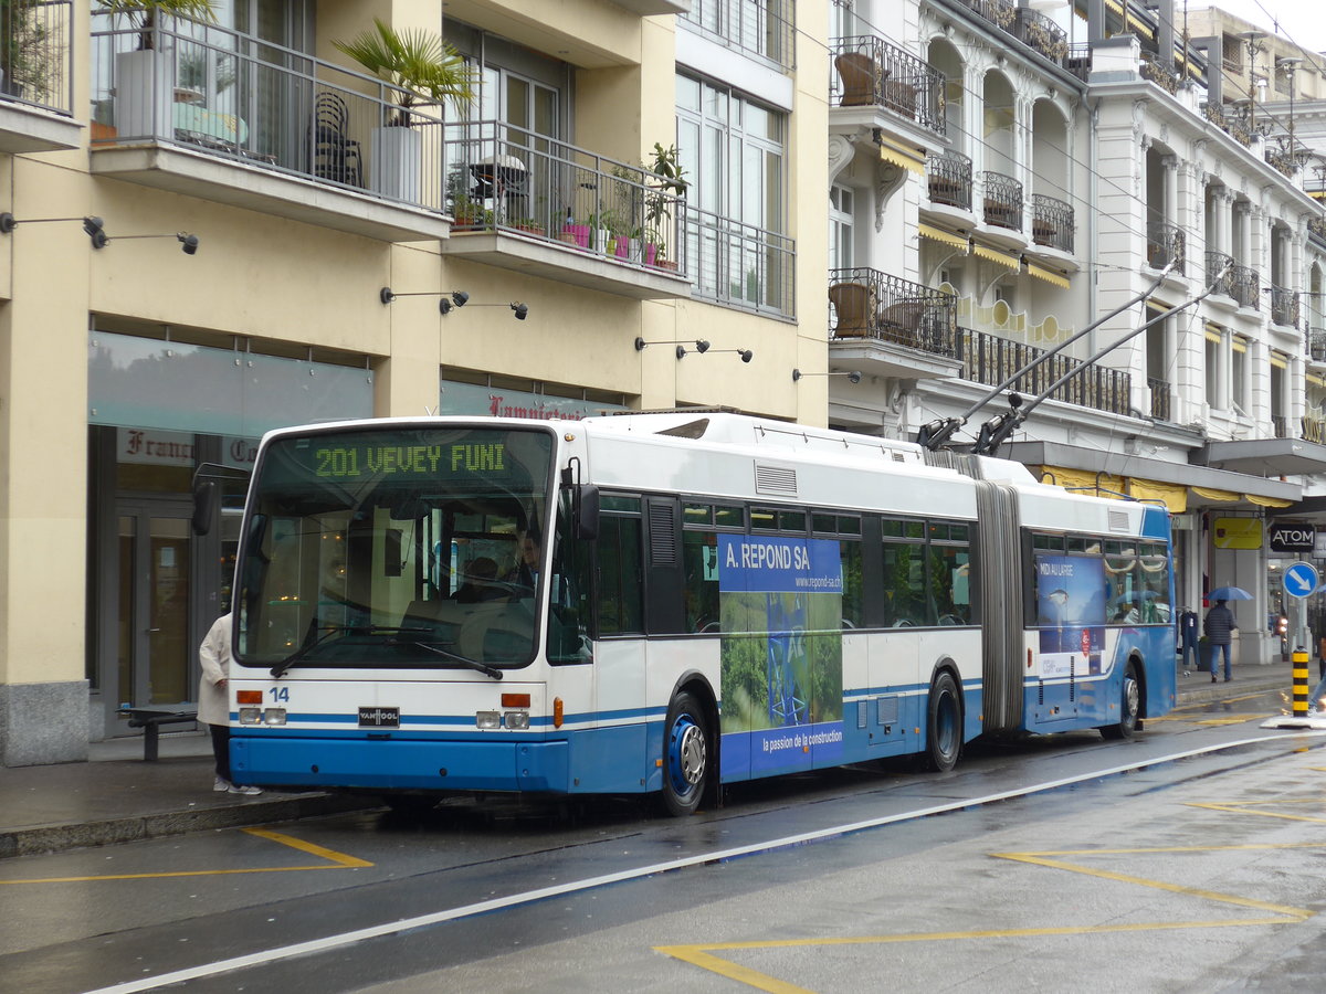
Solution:
[[[444,254],[639,300],[691,294],[700,240],[663,176],[500,121],[440,131]]]

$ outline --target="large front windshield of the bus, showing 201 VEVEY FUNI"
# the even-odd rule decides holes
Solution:
[[[261,452],[239,563],[237,661],[529,664],[552,486],[546,429],[310,429]]]

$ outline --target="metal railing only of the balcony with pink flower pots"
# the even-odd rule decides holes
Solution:
[[[688,272],[686,201],[662,176],[501,121],[442,130],[452,231],[518,232],[623,265]]]

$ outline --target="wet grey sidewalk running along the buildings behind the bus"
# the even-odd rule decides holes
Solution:
[[[1315,660],[1310,675],[1315,684]],[[1290,687],[1288,663],[1236,668],[1231,684],[1193,672],[1179,677],[1179,706],[1276,689],[1288,701]],[[142,738],[117,738],[93,744],[89,762],[0,769],[0,857],[378,806],[371,797],[322,793],[217,794],[204,732],[164,733],[160,758],[149,763],[142,757]]]

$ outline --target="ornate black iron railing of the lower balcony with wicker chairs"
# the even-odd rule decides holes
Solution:
[[[957,297],[878,269],[833,269],[833,337],[873,338],[935,355],[957,353]]]

